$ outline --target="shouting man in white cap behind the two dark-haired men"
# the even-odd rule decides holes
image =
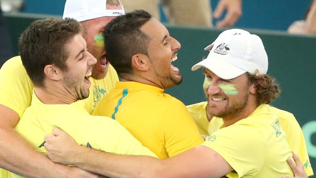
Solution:
[[[66,1],[64,18],[74,18],[82,22],[88,52],[97,58],[97,63],[92,68],[91,76],[94,79],[90,79],[89,97],[80,101],[85,103],[89,113],[92,113],[95,105],[119,80],[116,71],[106,60],[101,34],[111,19],[122,14],[124,10],[119,0]],[[20,56],[9,59],[2,66],[0,81],[0,167],[32,178],[82,176],[73,175],[68,166],[55,164],[37,153],[33,146],[13,129],[25,108],[30,106],[34,88]],[[0,177],[4,178],[5,175]]]

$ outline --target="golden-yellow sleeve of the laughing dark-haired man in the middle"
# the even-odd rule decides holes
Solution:
[[[164,133],[165,148],[169,157],[173,157],[203,142],[201,135],[182,102],[173,98],[162,110],[166,114],[160,122]],[[168,119],[169,118],[169,119]]]

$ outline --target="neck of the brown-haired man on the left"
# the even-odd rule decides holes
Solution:
[[[35,94],[42,103],[48,105],[71,104],[77,101],[67,89],[59,85],[35,87]]]

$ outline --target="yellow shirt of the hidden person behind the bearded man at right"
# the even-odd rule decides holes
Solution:
[[[222,118],[218,117],[213,117],[211,121],[208,122],[206,116],[206,106],[207,102],[200,102],[189,105],[187,108],[199,128],[200,134],[205,134],[205,130],[207,130],[207,135],[211,135],[215,131],[224,127],[224,122]],[[279,117],[281,127],[286,133],[286,140],[289,143],[290,148],[302,161],[307,176],[313,176],[314,172],[309,160],[304,135],[298,124],[298,121],[290,112],[278,109],[276,107],[270,107],[270,109]]]

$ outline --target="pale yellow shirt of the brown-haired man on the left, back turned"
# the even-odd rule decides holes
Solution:
[[[34,93],[31,106],[25,109],[15,130],[34,145],[38,152],[46,154],[44,136],[52,133],[55,127],[67,132],[80,145],[116,154],[157,157],[117,121],[103,116],[91,116],[83,102],[46,105]],[[10,174],[12,178],[20,178]]]

